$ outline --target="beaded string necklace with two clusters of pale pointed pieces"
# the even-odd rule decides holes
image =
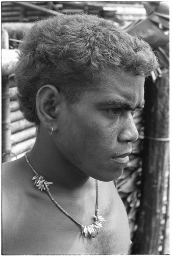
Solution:
[[[96,180],[96,209],[95,209],[95,215],[93,215],[94,221],[93,224],[84,226],[80,224],[78,221],[76,221],[72,216],[70,216],[67,211],[65,211],[53,198],[50,189],[48,188],[49,185],[53,184],[53,182],[47,182],[43,176],[38,174],[32,164],[30,163],[28,157],[27,157],[27,151],[25,153],[25,158],[31,169],[33,170],[34,174],[36,174],[32,180],[34,180],[34,185],[40,189],[41,191],[44,190],[47,195],[51,198],[53,203],[68,217],[70,218],[73,222],[75,222],[80,228],[81,232],[84,235],[85,238],[95,238],[97,234],[99,233],[99,230],[103,227],[102,222],[105,221],[105,219],[99,214],[99,208],[98,208],[98,181]]]

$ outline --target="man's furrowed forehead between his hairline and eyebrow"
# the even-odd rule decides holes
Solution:
[[[95,96],[95,94],[93,94]],[[96,91],[96,98],[101,101],[122,101],[142,105],[144,101],[144,76],[131,72],[106,70],[102,74],[101,84]],[[98,100],[99,100],[98,99]]]

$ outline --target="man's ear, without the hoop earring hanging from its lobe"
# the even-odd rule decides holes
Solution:
[[[37,115],[41,125],[47,131],[51,131],[51,125],[54,132],[58,130],[58,116],[63,100],[64,96],[51,84],[46,84],[37,92]]]

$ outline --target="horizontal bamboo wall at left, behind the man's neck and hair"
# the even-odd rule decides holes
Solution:
[[[15,160],[33,146],[36,134],[33,123],[28,122],[19,110],[14,82],[16,50],[3,49],[2,61],[2,123],[3,162]]]

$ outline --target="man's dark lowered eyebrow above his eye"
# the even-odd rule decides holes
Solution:
[[[101,105],[102,106],[115,106],[115,108],[117,108],[117,109],[124,109],[124,110],[130,110],[130,111],[135,110],[135,109],[142,110],[144,108],[144,99],[140,104],[135,105],[135,106],[129,104],[126,101],[121,101],[118,99],[103,101],[103,102],[101,102]]]

